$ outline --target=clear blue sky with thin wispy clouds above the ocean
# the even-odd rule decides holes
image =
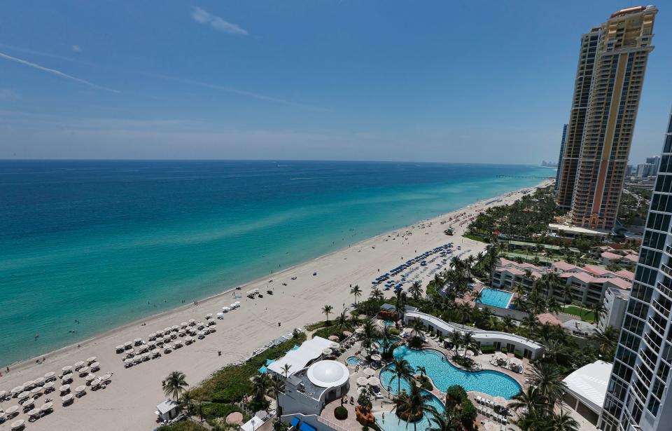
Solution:
[[[0,2],[0,158],[539,163],[632,1]],[[657,3],[631,161],[672,106]]]

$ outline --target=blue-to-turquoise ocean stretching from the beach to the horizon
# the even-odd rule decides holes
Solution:
[[[0,160],[0,365],[551,175],[524,165]]]

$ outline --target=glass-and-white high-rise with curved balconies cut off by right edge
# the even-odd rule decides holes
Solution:
[[[672,428],[672,114],[601,417],[604,431]]]

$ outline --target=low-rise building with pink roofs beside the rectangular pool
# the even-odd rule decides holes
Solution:
[[[500,259],[493,273],[492,285],[500,289],[514,289],[517,285],[522,285],[528,290],[535,280],[549,272],[557,273],[565,285],[570,286],[570,291],[560,286],[547,292],[547,289],[542,287],[544,294],[563,301],[566,299],[566,294],[570,293],[572,301],[586,306],[603,301],[607,289],[629,290],[634,277],[630,271],[612,272],[594,265],[580,267],[557,261],[549,268],[540,268],[532,264],[518,264],[508,259]]]

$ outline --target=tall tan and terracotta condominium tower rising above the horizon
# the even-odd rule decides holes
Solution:
[[[578,226],[615,224],[656,13],[622,9],[581,36],[557,193]]]

